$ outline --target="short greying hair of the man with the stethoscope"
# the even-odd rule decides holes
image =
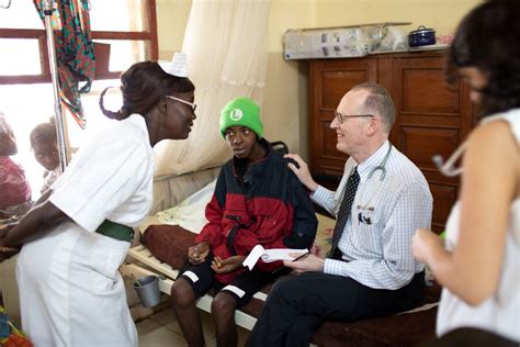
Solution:
[[[388,90],[381,85],[371,82],[357,85],[351,90],[360,89],[369,91],[369,96],[364,100],[365,111],[381,115],[385,133],[389,134],[395,122],[395,105]]]

